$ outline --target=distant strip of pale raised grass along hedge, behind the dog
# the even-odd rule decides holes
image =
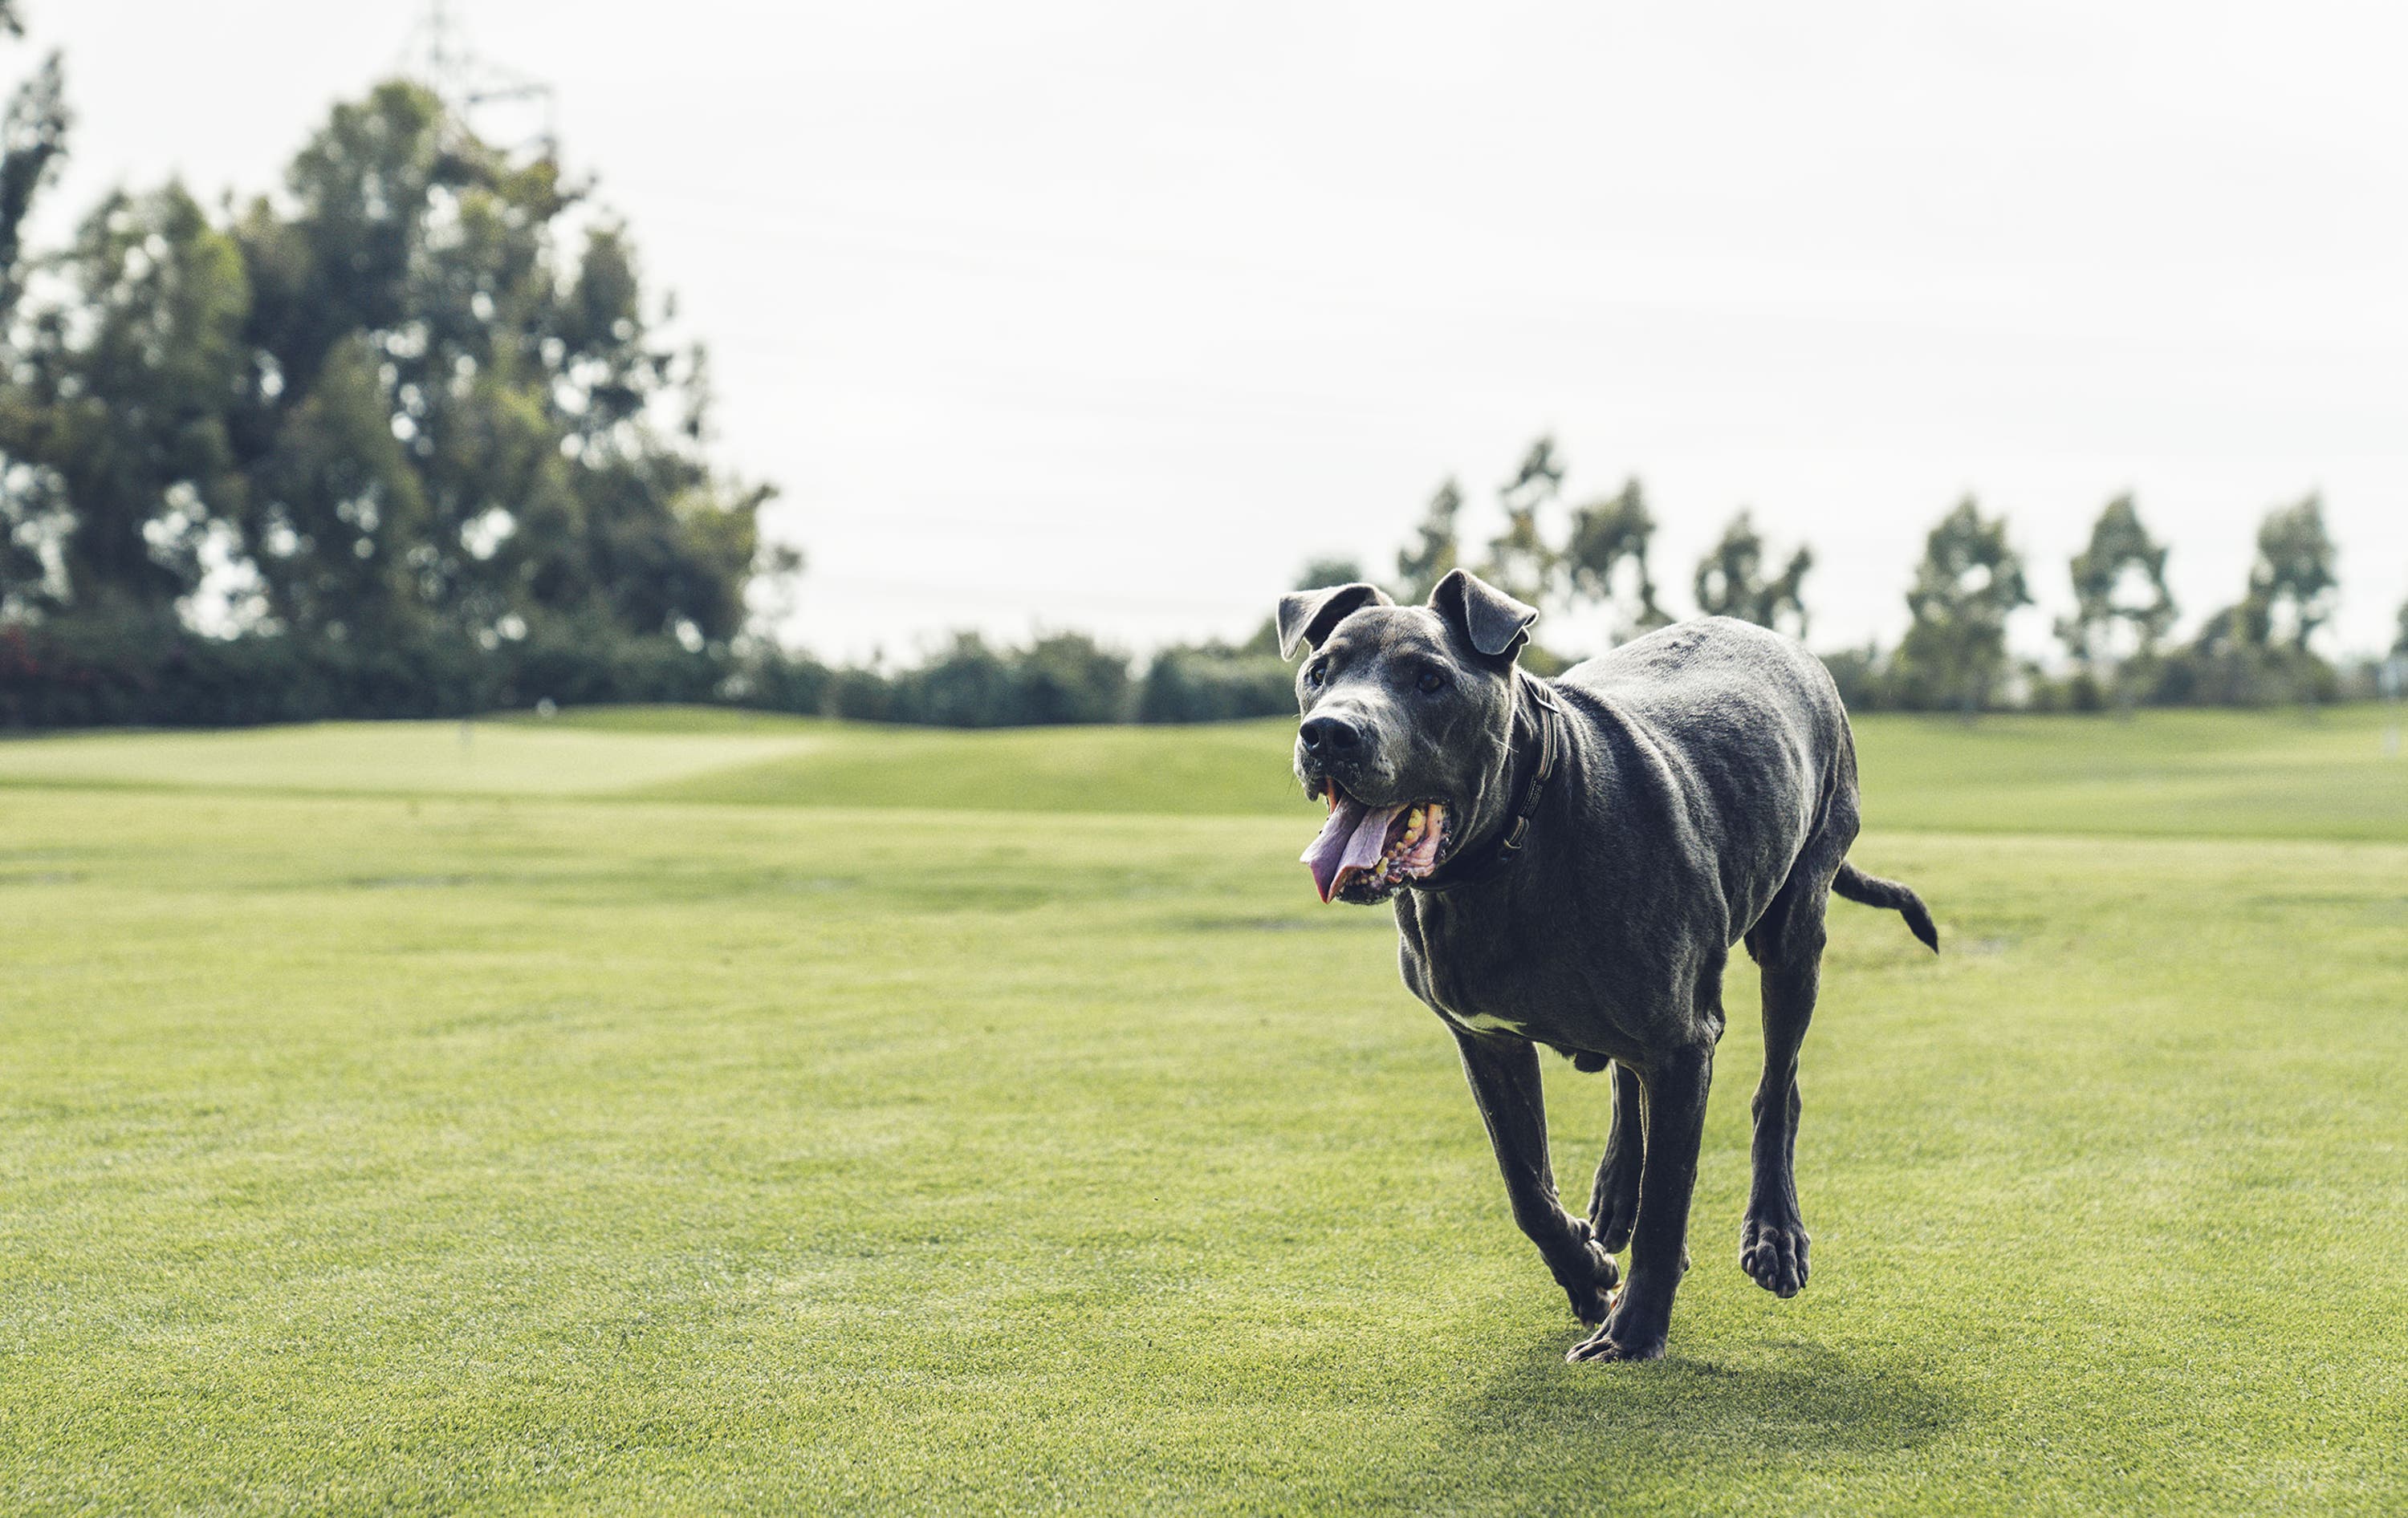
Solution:
[[[2408,842],[2398,722],[2386,707],[1975,724],[1873,714],[1857,741],[1873,828]],[[1288,779],[1286,722],[937,731],[600,707],[460,734],[453,722],[390,722],[0,741],[0,787],[1310,816]]]

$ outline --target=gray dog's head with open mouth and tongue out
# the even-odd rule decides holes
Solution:
[[[1536,618],[1464,570],[1428,606],[1377,585],[1281,597],[1279,654],[1312,647],[1296,671],[1296,777],[1329,806],[1305,849],[1324,902],[1382,902],[1503,820],[1512,666]]]

